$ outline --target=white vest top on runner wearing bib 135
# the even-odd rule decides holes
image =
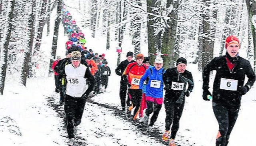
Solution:
[[[74,68],[72,64],[65,66],[67,79],[66,94],[72,97],[82,97],[87,89],[86,79],[84,78],[87,67],[80,64]]]

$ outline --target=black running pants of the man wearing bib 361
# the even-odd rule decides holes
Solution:
[[[170,138],[175,139],[180,126],[180,117],[183,112],[184,102],[176,103],[165,98],[164,107],[166,112],[165,130],[170,130],[172,125]]]

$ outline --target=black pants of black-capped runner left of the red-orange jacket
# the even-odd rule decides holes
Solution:
[[[130,98],[127,96],[127,85],[122,80],[120,82],[119,96],[120,96],[122,109],[125,109],[126,106],[130,106]],[[127,100],[126,100],[126,106],[125,106],[126,96],[127,96]]]

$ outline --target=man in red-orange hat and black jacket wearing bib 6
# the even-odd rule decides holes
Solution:
[[[255,73],[250,62],[239,56],[240,43],[237,37],[228,36],[225,41],[226,55],[215,57],[203,70],[203,99],[212,96],[212,109],[219,123],[216,146],[227,146],[245,95],[255,82]],[[210,72],[216,70],[213,91],[209,91]],[[244,85],[245,75],[248,77]]]

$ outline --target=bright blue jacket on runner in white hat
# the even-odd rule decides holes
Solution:
[[[148,83],[146,85],[146,96],[154,97],[154,98],[162,98],[163,97],[163,73],[165,70],[163,68],[156,70],[155,67],[151,67],[146,70],[144,75],[140,78],[139,89],[142,89],[143,82],[149,77]]]

